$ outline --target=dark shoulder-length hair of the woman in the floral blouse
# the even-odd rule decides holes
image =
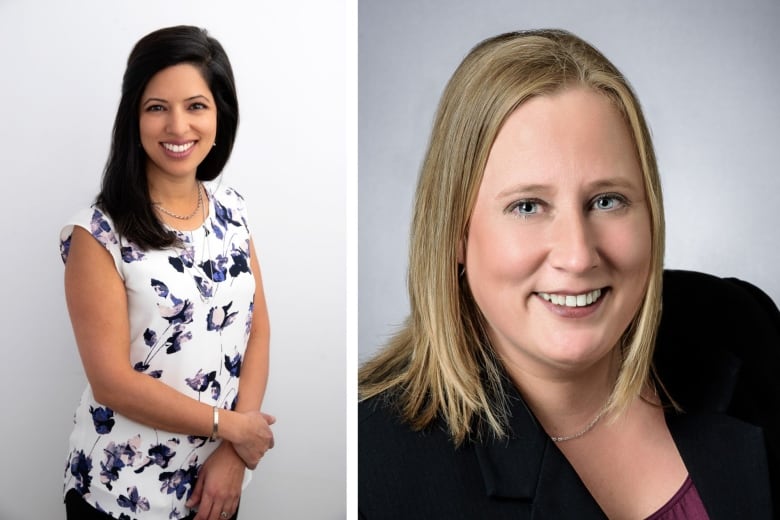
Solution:
[[[177,243],[154,212],[146,178],[146,152],[139,130],[140,103],[146,85],[161,70],[187,63],[197,67],[217,108],[215,146],[198,165],[197,178],[215,179],[224,168],[238,129],[238,98],[225,50],[205,29],[176,26],[141,38],[127,59],[122,97],[114,119],[111,150],[95,203],[114,220],[117,231],[142,249]]]

